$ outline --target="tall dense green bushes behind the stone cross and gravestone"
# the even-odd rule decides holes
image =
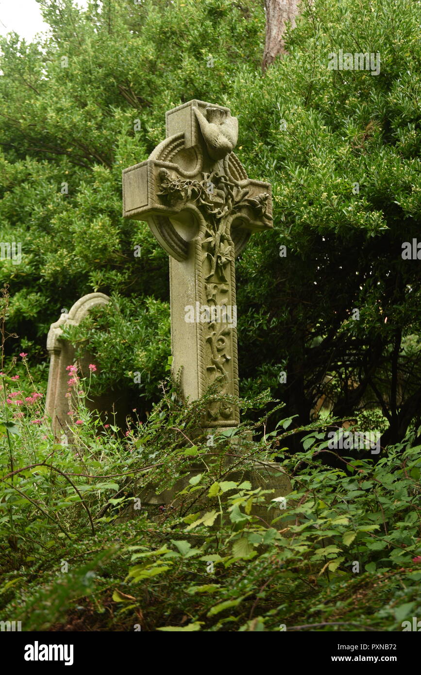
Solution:
[[[118,294],[129,338],[111,327],[119,359],[104,340],[99,361],[154,400],[146,383],[162,367],[131,308],[153,333],[169,311],[167,256],[144,223],[121,218],[121,169],[163,140],[165,110],[215,101],[239,117],[249,175],[273,184],[274,230],[237,262],[242,391],[271,387],[301,424],[320,396],[335,416],[377,410],[383,445],[401,440],[421,409],[420,268],[401,257],[420,229],[420,2],[304,3],[288,55],[264,76],[260,3],[40,4],[47,39],[1,41],[1,239],[22,242],[22,263],[1,265],[20,335],[8,353],[30,352],[45,378],[61,308]],[[380,73],[328,70],[339,49],[380,53]]]

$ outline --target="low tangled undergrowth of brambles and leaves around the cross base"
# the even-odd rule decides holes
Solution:
[[[419,430],[375,466],[354,455],[332,469],[316,423],[294,456],[290,418],[209,445],[198,435],[206,398],[186,406],[173,385],[121,439],[86,410],[79,379],[61,445],[30,374],[14,377],[1,375],[0,607],[22,630],[401,630],[419,616]],[[242,400],[243,414],[268,398]],[[286,502],[247,479],[274,458],[292,481]],[[148,485],[181,477],[172,503],[142,503]]]

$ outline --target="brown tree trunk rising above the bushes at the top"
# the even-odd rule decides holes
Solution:
[[[285,54],[282,36],[287,23],[296,26],[300,0],[264,0],[266,11],[266,41],[262,60],[262,71],[275,61],[278,54]]]

